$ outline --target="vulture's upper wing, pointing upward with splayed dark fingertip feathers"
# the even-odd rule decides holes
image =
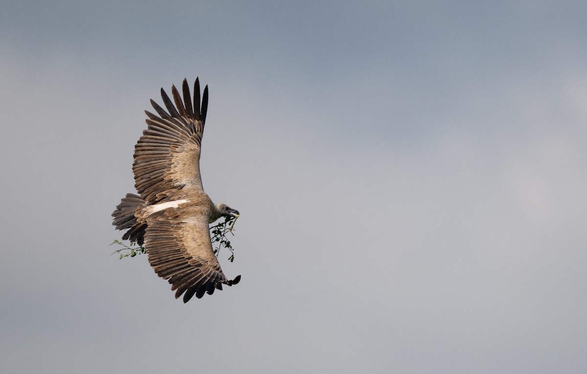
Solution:
[[[161,89],[167,111],[155,101],[151,105],[157,114],[147,114],[147,130],[134,147],[133,173],[141,198],[155,203],[178,190],[203,190],[200,177],[200,145],[208,110],[208,86],[200,106],[200,82],[195,79],[194,102],[184,79],[183,101],[175,86],[171,87],[173,101]],[[195,110],[194,110],[195,108]]]

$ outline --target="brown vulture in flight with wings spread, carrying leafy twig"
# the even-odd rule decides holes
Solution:
[[[214,204],[204,192],[200,177],[200,150],[206,112],[208,86],[200,105],[200,82],[190,87],[184,79],[183,100],[175,86],[173,101],[161,89],[167,111],[151,100],[157,114],[147,114],[147,130],[134,147],[134,187],[112,213],[113,225],[128,230],[124,240],[144,247],[149,263],[158,276],[171,284],[176,298],[188,302],[203,297],[233,280],[222,272],[212,250],[209,224],[221,217],[236,217],[238,211]],[[174,104],[175,103],[175,104]]]

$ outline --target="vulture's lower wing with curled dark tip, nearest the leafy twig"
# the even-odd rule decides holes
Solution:
[[[157,275],[176,290],[176,298],[185,293],[184,302],[222,290],[222,283],[238,283],[222,273],[212,251],[208,220],[202,215],[181,219],[163,213],[149,219],[145,249]]]

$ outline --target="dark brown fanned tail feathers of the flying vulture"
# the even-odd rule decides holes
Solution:
[[[134,195],[134,193],[127,193],[116,207],[116,210],[114,210],[114,213],[112,213],[114,217],[112,225],[116,226],[116,229],[130,229],[124,233],[122,239],[130,240],[140,246],[144,243],[144,234],[147,225],[145,223],[137,223],[137,217],[134,216],[134,213],[144,208],[145,204],[145,200],[141,199],[140,196]]]

